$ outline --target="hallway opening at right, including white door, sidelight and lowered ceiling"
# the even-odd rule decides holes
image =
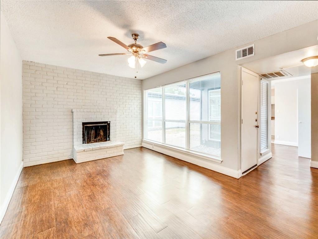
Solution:
[[[306,67],[301,60],[314,55],[318,55],[318,45],[240,66],[243,175],[275,156],[274,153],[278,153],[276,148],[286,155],[297,154],[298,160],[308,161],[309,166],[311,68]],[[254,87],[244,84],[247,79],[244,72],[247,71],[255,76]],[[249,99],[251,97],[253,99]],[[257,104],[255,114],[252,114],[251,110],[246,114],[248,109],[255,109],[255,103]],[[253,127],[256,132],[252,131]],[[255,135],[257,135],[256,140]]]

